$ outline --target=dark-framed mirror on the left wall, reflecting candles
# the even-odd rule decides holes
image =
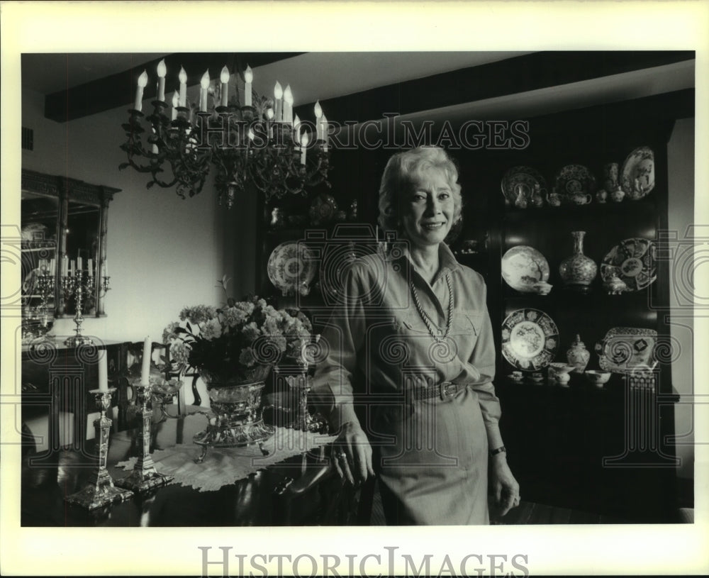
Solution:
[[[108,204],[119,189],[22,171],[23,339],[57,317],[104,316]]]

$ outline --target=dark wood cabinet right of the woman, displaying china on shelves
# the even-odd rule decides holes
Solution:
[[[569,387],[530,379],[510,379],[514,367],[501,354],[503,321],[520,309],[547,314],[558,328],[554,361],[566,362],[566,350],[576,335],[591,353],[586,369],[599,369],[594,345],[611,328],[657,331],[657,348],[672,348],[669,330],[669,266],[667,143],[674,119],[691,116],[693,92],[663,95],[640,101],[597,106],[529,120],[529,145],[524,150],[463,152],[461,182],[473,201],[464,213],[467,223],[459,248],[467,238],[484,238],[478,255],[459,255],[478,270],[488,285],[489,311],[498,351],[496,390],[501,399],[501,430],[508,461],[525,499],[542,504],[620,516],[628,521],[661,522],[672,519],[676,508],[674,448],[666,443],[674,434],[671,383],[672,355],[656,355],[652,377],[636,379],[630,372],[614,372],[602,388],[584,374],[571,374]],[[520,209],[506,205],[501,179],[517,165],[536,169],[549,191],[554,176],[565,165],[583,165],[603,182],[602,167],[647,146],[654,152],[654,189],[642,199],[608,199],[599,203]],[[484,232],[476,229],[484,211]],[[598,265],[598,275],[586,294],[564,289],[559,264],[573,252],[571,232],[582,230],[584,254]],[[601,262],[622,240],[643,238],[655,245],[657,280],[646,289],[619,295],[606,293]],[[549,263],[545,296],[520,293],[503,280],[501,260],[506,251],[528,245]]]

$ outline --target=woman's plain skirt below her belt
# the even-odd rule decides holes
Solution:
[[[488,444],[477,394],[382,411],[374,467],[389,525],[488,524]]]

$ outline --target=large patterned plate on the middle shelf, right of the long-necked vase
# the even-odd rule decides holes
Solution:
[[[601,262],[601,278],[613,275],[625,282],[629,291],[645,289],[657,279],[655,245],[642,238],[630,238],[615,245]]]

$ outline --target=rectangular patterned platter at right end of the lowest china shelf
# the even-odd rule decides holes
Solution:
[[[630,373],[637,367],[651,367],[657,331],[636,327],[614,327],[596,343],[598,365],[603,371]]]

